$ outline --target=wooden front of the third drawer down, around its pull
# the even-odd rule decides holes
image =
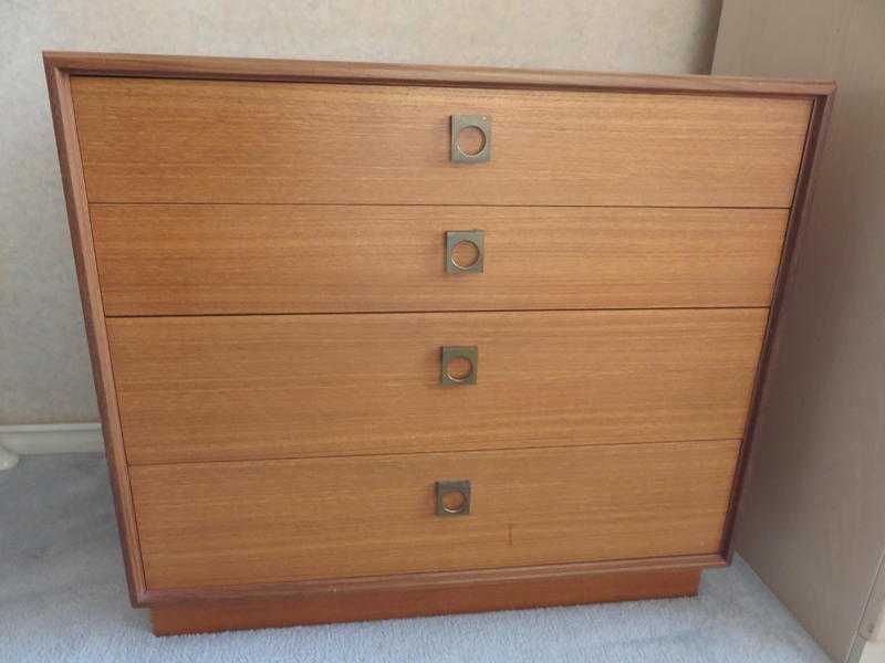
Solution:
[[[145,317],[107,333],[142,464],[739,439],[767,315]],[[476,346],[476,383],[440,383],[444,346]]]

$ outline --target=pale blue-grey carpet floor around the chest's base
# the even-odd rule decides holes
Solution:
[[[738,557],[693,599],[155,638],[129,608],[104,457],[0,472],[0,661],[826,663]]]

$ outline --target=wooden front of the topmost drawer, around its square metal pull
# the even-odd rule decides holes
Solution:
[[[787,208],[811,98],[72,78],[92,202]],[[450,117],[491,118],[454,164]]]

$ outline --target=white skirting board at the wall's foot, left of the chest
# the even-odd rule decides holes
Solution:
[[[14,467],[20,455],[103,451],[100,423],[0,425],[0,470]]]

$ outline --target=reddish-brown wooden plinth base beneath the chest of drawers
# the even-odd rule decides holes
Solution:
[[[595,572],[431,588],[154,606],[156,635],[695,596],[699,569]]]

